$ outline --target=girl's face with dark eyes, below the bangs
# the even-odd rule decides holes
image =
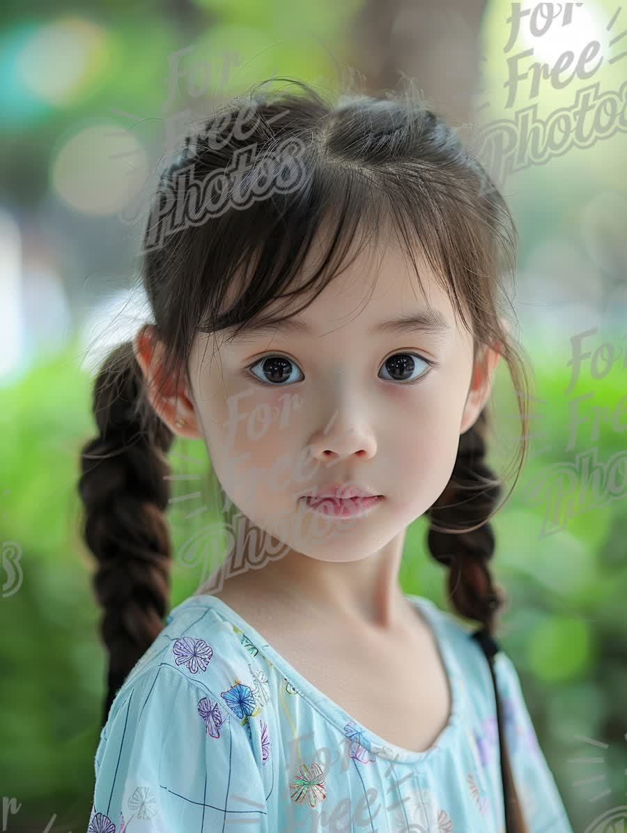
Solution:
[[[289,328],[194,344],[193,389],[172,425],[183,416],[204,437],[226,495],[266,531],[272,557],[356,561],[404,534],[444,491],[460,434],[490,393],[498,354],[473,374],[470,334],[428,272],[438,327],[392,327],[427,307],[411,262],[392,246],[381,254],[373,265],[362,251]],[[382,499],[346,518],[301,497],[343,484]]]

